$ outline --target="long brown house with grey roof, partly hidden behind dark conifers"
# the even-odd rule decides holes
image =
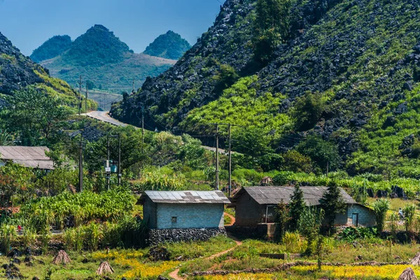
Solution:
[[[317,207],[319,200],[327,191],[327,187],[300,187],[304,202],[309,207]],[[242,188],[232,197],[228,207],[235,208],[236,222],[239,227],[255,227],[261,224],[274,223],[275,207],[283,200],[290,202],[293,186],[261,186]],[[372,227],[376,224],[372,209],[358,204],[353,198],[340,188],[342,197],[347,204],[345,214],[335,217],[335,225]]]

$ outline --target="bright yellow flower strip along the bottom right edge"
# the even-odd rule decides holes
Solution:
[[[412,267],[416,275],[420,275],[420,267],[414,265],[384,265],[384,266],[328,266],[323,265],[323,272],[331,272],[333,276],[337,278],[360,278],[360,277],[370,277],[380,275],[384,279],[397,279],[398,276],[406,269],[407,267]],[[303,267],[292,267],[295,272],[308,272],[310,270],[317,269],[316,265],[303,266]]]

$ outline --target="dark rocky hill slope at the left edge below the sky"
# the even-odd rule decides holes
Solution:
[[[10,94],[21,87],[42,83],[43,80],[34,72],[36,69],[40,71],[41,66],[22,55],[20,50],[0,33],[0,93]]]

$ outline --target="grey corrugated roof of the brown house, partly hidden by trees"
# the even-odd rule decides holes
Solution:
[[[290,197],[293,195],[293,186],[279,186],[279,187],[248,187],[243,188],[241,191],[232,198],[232,202],[237,200],[242,193],[246,192],[250,195],[258,204],[279,204],[281,200],[284,203],[290,202]],[[319,204],[319,200],[323,194],[327,191],[327,187],[300,187],[303,192],[303,199],[308,206],[315,206]],[[345,190],[340,188],[344,202],[347,204],[356,204]]]

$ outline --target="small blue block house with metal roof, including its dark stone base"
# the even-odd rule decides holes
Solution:
[[[151,244],[225,234],[223,213],[230,200],[221,191],[146,190],[139,202]]]

